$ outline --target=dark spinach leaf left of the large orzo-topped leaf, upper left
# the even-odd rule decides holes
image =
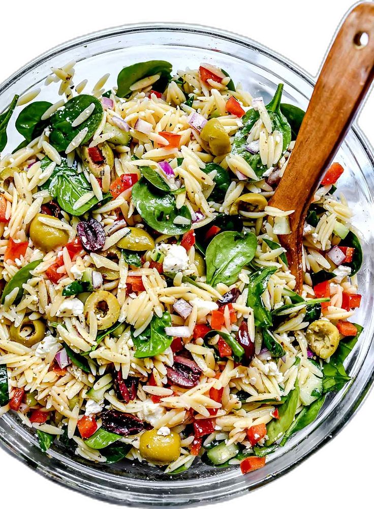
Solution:
[[[16,120],[16,129],[22,134],[24,140],[18,148],[26,146],[31,140],[42,134],[44,128],[49,124],[49,119],[42,120],[41,117],[50,106],[52,106],[50,102],[35,101],[22,109]]]

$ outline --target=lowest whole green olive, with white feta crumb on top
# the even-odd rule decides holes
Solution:
[[[174,432],[164,437],[158,435],[157,430],[146,431],[140,437],[139,452],[144,459],[152,463],[167,465],[179,458],[181,437]]]

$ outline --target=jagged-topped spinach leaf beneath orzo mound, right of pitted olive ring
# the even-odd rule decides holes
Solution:
[[[171,327],[171,316],[167,311],[161,318],[155,315],[145,331],[132,337],[137,359],[159,355],[171,345],[172,336],[166,334],[165,327]]]

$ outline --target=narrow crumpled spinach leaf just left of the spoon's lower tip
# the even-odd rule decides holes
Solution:
[[[272,325],[271,313],[264,306],[262,294],[265,292],[270,276],[277,271],[277,267],[265,267],[249,276],[247,306],[253,309],[256,327]]]

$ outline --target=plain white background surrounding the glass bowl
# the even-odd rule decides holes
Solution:
[[[68,39],[108,26],[142,21],[199,23],[243,34],[316,75],[338,23],[352,5],[352,0],[2,2],[0,81],[38,54]],[[374,145],[373,111],[371,94],[359,119],[371,145]],[[214,507],[228,509],[235,504],[238,509],[296,506],[314,509],[329,505],[346,508],[360,502],[363,507],[372,506],[373,418],[371,392],[349,425],[317,454],[265,488]],[[8,495],[13,507],[22,501],[28,509],[51,506],[60,509],[63,504],[90,509],[107,506],[52,484],[3,450],[0,450],[0,479],[2,505]]]

